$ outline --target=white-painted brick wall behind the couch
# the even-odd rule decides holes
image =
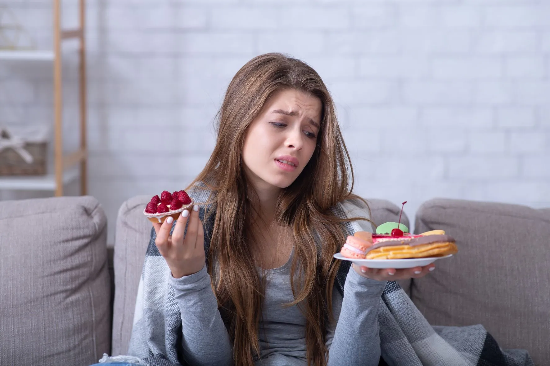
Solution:
[[[51,46],[50,3],[0,0],[41,48]],[[406,200],[411,219],[432,197],[550,206],[547,1],[88,3],[89,187],[110,241],[125,199],[179,189],[199,173],[231,77],[271,51],[305,60],[326,81],[357,193]],[[65,4],[74,26],[75,0]],[[74,55],[66,61],[69,140]],[[0,121],[51,123],[50,71],[0,64]]]

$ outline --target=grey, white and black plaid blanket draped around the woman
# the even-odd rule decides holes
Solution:
[[[195,202],[205,202],[207,191],[190,190]],[[210,245],[213,220],[204,221],[205,210],[199,216],[205,229],[205,249]],[[368,217],[365,207],[349,201],[333,208],[338,217]],[[213,218],[213,215],[211,216]],[[175,225],[175,222],[174,222]],[[367,225],[367,226],[365,226]],[[345,223],[349,235],[365,230],[367,221]],[[182,320],[174,300],[174,291],[168,285],[170,270],[155,245],[155,231],[147,248],[145,263],[139,283],[135,306],[134,324],[125,362],[149,366],[181,365]],[[340,265],[335,286],[343,294],[344,282],[350,267],[345,261]],[[533,362],[525,350],[501,350],[498,343],[482,325],[431,326],[395,281],[388,281],[380,299],[378,321],[380,326],[381,365],[507,365],[530,366]],[[103,357],[100,362],[122,360]],[[345,364],[345,360],[342,361]],[[192,366],[192,365],[191,365]]]

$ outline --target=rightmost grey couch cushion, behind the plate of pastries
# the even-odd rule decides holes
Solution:
[[[550,210],[432,199],[415,231],[443,229],[459,252],[413,281],[411,298],[432,325],[482,324],[502,348],[550,359]]]

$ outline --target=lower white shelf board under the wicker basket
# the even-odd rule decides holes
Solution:
[[[68,169],[63,174],[63,184],[68,184],[79,176],[78,167]],[[53,173],[37,176],[0,176],[0,190],[55,191],[56,176]]]

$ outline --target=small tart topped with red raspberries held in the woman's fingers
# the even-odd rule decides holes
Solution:
[[[169,216],[177,220],[184,209],[191,209],[193,200],[185,191],[170,193],[162,191],[161,197],[153,196],[143,210],[144,215],[152,223],[163,223]]]

